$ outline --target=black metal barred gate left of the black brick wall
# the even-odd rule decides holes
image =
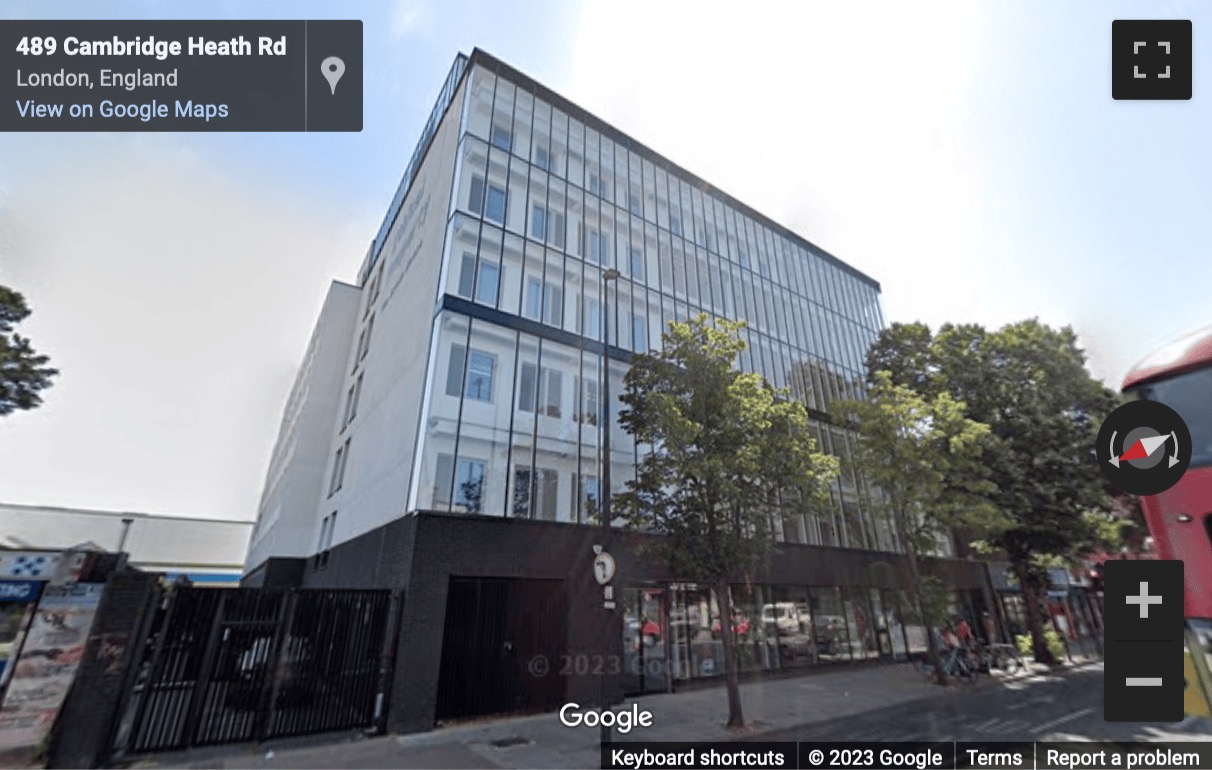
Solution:
[[[387,591],[175,587],[143,639],[115,755],[375,726]]]

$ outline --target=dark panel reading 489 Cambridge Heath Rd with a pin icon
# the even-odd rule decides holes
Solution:
[[[0,131],[361,131],[360,21],[0,23]]]

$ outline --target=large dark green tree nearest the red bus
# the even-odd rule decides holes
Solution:
[[[1071,329],[1035,319],[994,332],[948,324],[933,337],[924,324],[894,324],[868,354],[868,376],[881,370],[927,398],[949,393],[968,418],[989,426],[982,462],[995,491],[987,500],[1011,521],[989,544],[1006,554],[1023,587],[1036,660],[1056,662],[1042,632],[1041,557],[1097,542],[1088,513],[1108,501],[1094,435],[1115,394],[1086,371]]]

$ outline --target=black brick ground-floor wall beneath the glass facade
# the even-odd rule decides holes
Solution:
[[[607,543],[618,561],[616,584],[676,580],[645,554],[647,536],[612,532]],[[595,527],[551,521],[422,513],[398,519],[332,549],[327,565],[304,566],[308,588],[393,588],[405,591],[387,726],[415,732],[434,725],[441,669],[446,592],[451,576],[561,580],[568,589],[568,654],[601,649],[602,589],[593,580]],[[871,565],[888,565],[873,570]],[[961,589],[985,589],[979,561],[926,560]],[[762,583],[790,586],[905,584],[904,560],[881,552],[781,546]],[[739,582],[739,576],[738,576]],[[894,587],[894,586],[886,586]],[[622,617],[608,631],[622,640]],[[568,677],[566,697],[593,702],[599,679]]]

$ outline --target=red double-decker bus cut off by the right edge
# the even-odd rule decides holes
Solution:
[[[1191,464],[1160,495],[1140,498],[1154,551],[1182,559],[1189,714],[1212,701],[1212,326],[1176,340],[1137,364],[1125,394],[1173,409],[1191,432]]]

